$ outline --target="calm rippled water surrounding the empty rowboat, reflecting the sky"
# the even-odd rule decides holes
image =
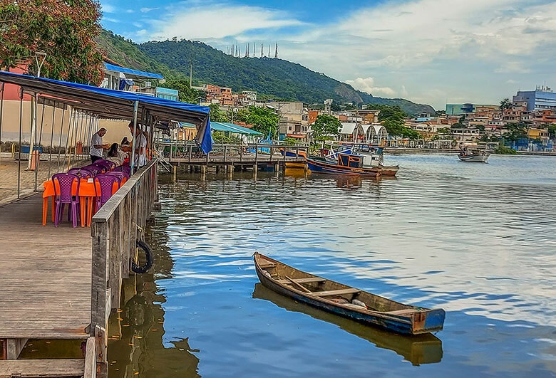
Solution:
[[[160,184],[154,275],[113,314],[113,377],[555,377],[556,158],[390,155],[397,179]],[[402,337],[257,285],[268,254],[446,310]],[[135,290],[135,286],[137,289]]]

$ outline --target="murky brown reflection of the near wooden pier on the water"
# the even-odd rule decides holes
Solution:
[[[120,309],[108,325],[108,377],[200,377],[199,359],[187,338],[164,342],[164,295],[155,283],[170,278],[173,260],[163,233],[150,233],[153,271],[124,280]]]

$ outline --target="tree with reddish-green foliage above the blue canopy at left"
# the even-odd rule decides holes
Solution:
[[[32,63],[46,53],[41,76],[98,84],[102,55],[94,40],[100,32],[98,0],[18,0],[0,2],[0,67]]]

